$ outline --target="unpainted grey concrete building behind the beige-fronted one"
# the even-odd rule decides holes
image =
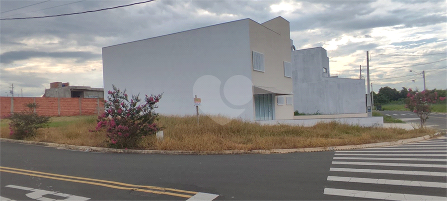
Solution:
[[[292,61],[294,110],[308,114],[366,113],[365,80],[325,77],[330,76],[325,49],[292,51]]]

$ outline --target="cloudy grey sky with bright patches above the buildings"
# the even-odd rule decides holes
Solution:
[[[0,0],[0,18],[58,15],[144,0]],[[34,4],[34,5],[33,5]],[[0,21],[0,95],[40,97],[50,82],[103,87],[101,48],[251,18],[290,21],[297,49],[323,47],[331,75],[359,78],[370,51],[373,90],[446,89],[445,0],[156,0],[70,16]],[[394,55],[394,56],[390,56]],[[414,80],[414,81],[413,81]],[[119,87],[119,86],[118,86]]]

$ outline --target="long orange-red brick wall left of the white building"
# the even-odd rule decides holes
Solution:
[[[99,115],[104,112],[104,100],[96,98],[0,97],[0,118],[11,112],[28,110],[24,104],[37,103],[37,114],[43,116]],[[12,105],[12,107],[11,107]]]

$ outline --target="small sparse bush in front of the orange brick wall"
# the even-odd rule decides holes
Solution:
[[[12,113],[8,119],[9,134],[15,139],[24,139],[36,134],[37,129],[48,127],[50,117],[39,116],[34,110],[38,108],[36,103],[24,104],[28,108],[28,111],[20,113]]]

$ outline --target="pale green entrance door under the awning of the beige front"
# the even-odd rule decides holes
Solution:
[[[254,95],[254,101],[256,120],[273,120],[273,95],[256,94]]]

